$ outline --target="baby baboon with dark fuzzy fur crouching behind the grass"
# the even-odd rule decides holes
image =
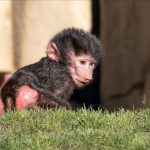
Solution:
[[[3,86],[4,110],[70,108],[73,90],[92,81],[102,52],[100,41],[82,29],[68,28],[56,34],[48,43],[46,57],[18,69]]]

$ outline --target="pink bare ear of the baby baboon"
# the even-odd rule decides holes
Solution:
[[[60,53],[55,43],[49,43],[47,46],[47,55],[50,59],[59,61]]]

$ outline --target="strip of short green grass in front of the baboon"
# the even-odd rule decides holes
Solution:
[[[149,150],[150,110],[23,110],[0,117],[2,150]]]

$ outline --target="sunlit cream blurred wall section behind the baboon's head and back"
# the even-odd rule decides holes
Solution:
[[[89,0],[0,1],[0,14],[3,15],[1,43],[6,43],[0,45],[3,46],[0,51],[13,51],[14,69],[39,60],[45,55],[50,38],[62,29],[72,26],[91,29],[90,3]],[[10,42],[12,46],[8,47]],[[12,54],[7,52],[5,55]],[[3,59],[10,60],[7,57]],[[1,61],[0,64],[3,64],[4,61]],[[12,66],[12,61],[6,64]],[[12,67],[9,68],[11,71]]]

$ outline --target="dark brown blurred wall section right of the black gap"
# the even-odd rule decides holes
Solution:
[[[101,0],[102,106],[150,106],[150,1]]]

